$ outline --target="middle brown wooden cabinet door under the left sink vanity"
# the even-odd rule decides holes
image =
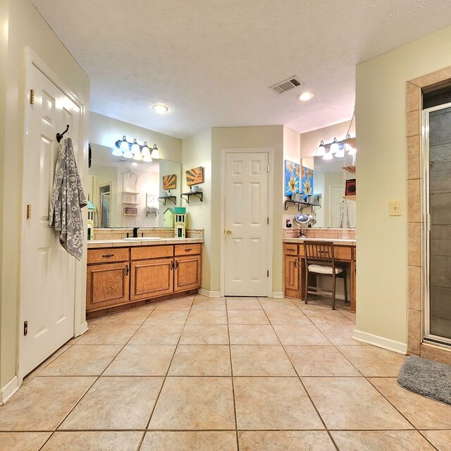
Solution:
[[[132,261],[130,299],[150,299],[173,292],[173,259]]]

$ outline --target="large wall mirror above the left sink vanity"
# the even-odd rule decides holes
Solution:
[[[172,199],[180,206],[180,163],[133,161],[113,156],[110,147],[90,145],[88,198],[95,209],[94,228],[164,227],[163,214],[175,204],[165,199],[165,205],[158,198],[166,192],[175,196]],[[164,175],[175,175],[175,188],[170,193],[163,189]]]

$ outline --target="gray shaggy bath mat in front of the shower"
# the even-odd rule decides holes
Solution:
[[[451,366],[421,357],[406,357],[397,383],[432,400],[451,404]]]

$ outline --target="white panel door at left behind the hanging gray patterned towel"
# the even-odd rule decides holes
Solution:
[[[23,235],[20,299],[20,375],[25,376],[74,334],[75,258],[61,247],[49,228],[49,204],[58,154],[56,133],[73,140],[81,155],[80,108],[35,66],[27,75],[35,90],[27,105],[23,209],[30,206]],[[66,137],[65,136],[65,137]],[[80,159],[78,159],[80,161]],[[24,322],[27,321],[27,334]]]

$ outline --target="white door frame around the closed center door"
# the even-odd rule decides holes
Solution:
[[[219,273],[220,273],[220,296],[224,296],[226,288],[226,274],[225,274],[225,257],[226,257],[226,154],[268,154],[268,165],[270,171],[268,172],[268,288],[267,296],[273,297],[273,168],[274,168],[274,149],[271,148],[253,148],[245,147],[238,149],[221,149],[221,257],[219,259]]]

